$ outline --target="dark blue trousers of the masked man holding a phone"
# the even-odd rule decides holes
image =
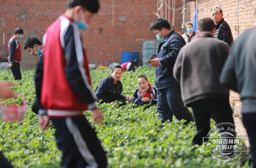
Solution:
[[[181,99],[180,87],[169,87],[157,90],[157,111],[163,123],[167,120],[172,121],[173,115],[175,115],[178,120],[186,120],[185,124],[193,121],[191,112],[184,106]]]

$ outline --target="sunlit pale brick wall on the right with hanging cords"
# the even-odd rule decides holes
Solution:
[[[195,15],[195,0],[187,3],[188,20],[193,22]],[[237,17],[237,0],[198,0],[198,20],[204,17],[211,17],[211,8],[221,7],[224,20],[230,25],[233,38],[239,36],[247,29],[256,25],[256,0],[239,0]],[[240,25],[239,34],[235,31],[235,25]],[[230,104],[236,115],[241,115],[241,101],[239,94],[230,91]]]

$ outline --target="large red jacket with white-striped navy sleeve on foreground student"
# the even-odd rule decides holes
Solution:
[[[47,109],[51,117],[79,116],[83,110],[96,109],[87,56],[74,21],[61,15],[47,29],[43,43],[44,56],[35,75],[39,108]]]

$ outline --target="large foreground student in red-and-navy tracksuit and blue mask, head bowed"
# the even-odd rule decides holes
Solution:
[[[83,115],[89,109],[94,122],[102,123],[81,38],[81,30],[99,7],[99,0],[70,0],[65,14],[47,28],[43,38],[44,56],[35,75],[39,125],[46,130],[52,121],[63,168],[107,167],[106,153]]]

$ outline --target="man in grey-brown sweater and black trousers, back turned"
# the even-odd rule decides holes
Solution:
[[[217,124],[234,124],[229,91],[219,81],[230,48],[213,38],[215,24],[210,18],[199,21],[198,31],[198,39],[180,50],[173,69],[175,79],[180,81],[182,100],[192,107],[197,126],[192,145],[203,143],[210,131],[210,118]]]

